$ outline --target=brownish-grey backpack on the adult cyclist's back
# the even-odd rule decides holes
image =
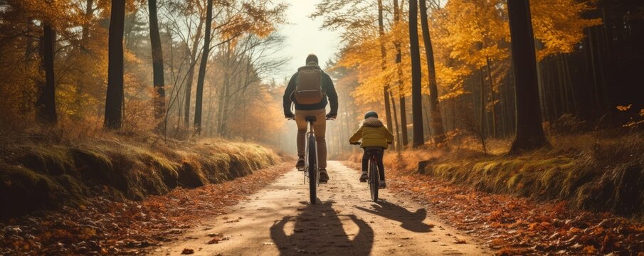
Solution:
[[[322,102],[325,92],[322,90],[322,70],[317,65],[306,65],[299,68],[295,91],[295,101],[301,105],[314,105]]]

